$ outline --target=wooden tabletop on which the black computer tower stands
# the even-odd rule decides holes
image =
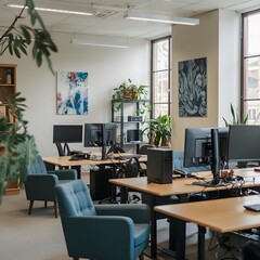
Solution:
[[[260,172],[255,171],[253,168],[235,169],[235,176],[244,178],[245,183],[243,187],[253,187],[260,186]],[[197,177],[210,180],[212,173],[210,171],[198,172]],[[159,184],[159,183],[147,183],[146,177],[141,178],[127,178],[127,179],[110,179],[109,182],[118,185],[125,186],[138,192],[148,193],[155,196],[169,196],[169,195],[182,195],[188,193],[199,193],[199,192],[211,192],[217,190],[230,190],[232,187],[237,187],[237,185],[218,186],[218,187],[203,187],[198,185],[193,185],[192,183],[199,181],[193,178],[182,178],[174,179],[172,183]]]

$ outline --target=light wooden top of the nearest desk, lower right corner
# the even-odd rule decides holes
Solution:
[[[154,210],[226,233],[260,226],[260,212],[244,208],[250,204],[260,204],[260,195],[156,206]]]

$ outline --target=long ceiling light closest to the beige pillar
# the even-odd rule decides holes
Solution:
[[[141,12],[135,12],[135,11],[128,11],[125,18],[167,23],[167,24],[182,24],[182,25],[198,25],[199,24],[199,20],[197,20],[197,18],[174,17],[174,16],[170,16],[170,15],[141,13]]]

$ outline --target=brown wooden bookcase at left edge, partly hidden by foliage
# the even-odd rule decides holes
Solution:
[[[9,113],[6,96],[16,92],[16,64],[0,64],[0,118],[8,117],[9,123],[14,123],[14,117]],[[4,153],[1,145],[0,153]],[[18,194],[20,187],[17,183],[13,183],[5,190],[5,195]]]

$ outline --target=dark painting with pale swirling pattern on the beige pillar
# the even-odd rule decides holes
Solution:
[[[207,58],[179,62],[179,116],[207,117]]]

